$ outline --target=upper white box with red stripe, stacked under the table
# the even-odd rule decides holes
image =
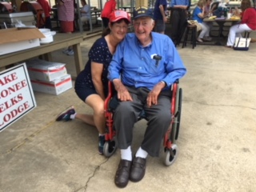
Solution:
[[[60,62],[47,62],[34,58],[26,61],[26,66],[30,79],[33,80],[51,82],[66,74],[65,64]]]

